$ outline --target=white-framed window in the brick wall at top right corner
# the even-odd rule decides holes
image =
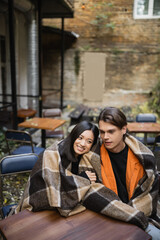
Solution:
[[[134,0],[134,18],[160,18],[160,0]]]

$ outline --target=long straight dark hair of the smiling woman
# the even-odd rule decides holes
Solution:
[[[94,135],[93,145],[97,142],[97,138],[99,135],[98,127],[93,123],[82,121],[72,129],[68,137],[66,137],[62,142],[60,142],[59,152],[62,159],[69,160],[70,162],[77,161],[74,154],[73,144],[75,140],[81,135],[81,133],[86,130],[91,130],[93,132]]]

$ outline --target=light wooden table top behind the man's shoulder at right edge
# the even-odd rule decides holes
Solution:
[[[160,133],[160,123],[132,122],[127,124],[130,133]]]

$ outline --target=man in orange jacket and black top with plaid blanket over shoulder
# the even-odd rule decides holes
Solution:
[[[152,223],[155,219],[159,221],[156,216],[158,174],[152,152],[126,133],[126,117],[117,108],[106,107],[102,110],[99,130],[102,140],[102,183],[123,203],[143,212],[147,219],[152,219]],[[160,239],[160,230],[152,224],[147,226],[146,231],[152,239]]]

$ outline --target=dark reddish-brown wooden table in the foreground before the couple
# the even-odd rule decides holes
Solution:
[[[0,221],[8,240],[151,240],[139,227],[86,210],[65,218],[57,211],[24,210]]]

